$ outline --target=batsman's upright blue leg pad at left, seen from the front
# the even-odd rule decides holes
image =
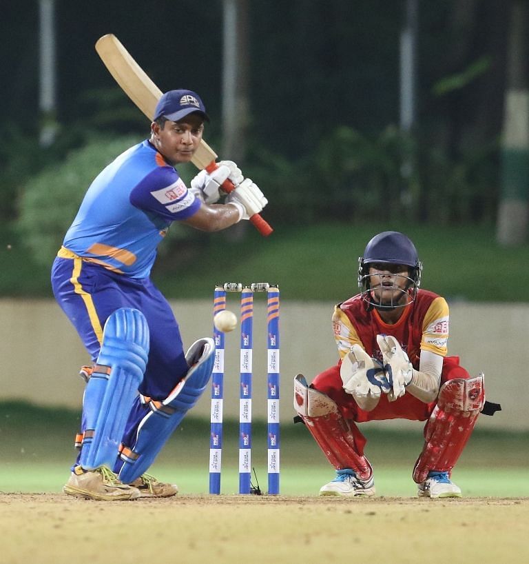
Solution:
[[[79,463],[85,470],[114,465],[148,354],[145,316],[132,308],[112,313],[83,399],[86,428]]]

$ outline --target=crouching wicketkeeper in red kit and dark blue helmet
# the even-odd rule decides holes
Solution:
[[[450,473],[484,407],[484,375],[446,356],[448,304],[419,290],[422,263],[406,235],[377,234],[359,263],[360,294],[333,314],[338,364],[310,386],[294,379],[295,410],[337,474],[320,495],[373,496],[357,423],[411,419],[426,421],[413,470],[419,496],[459,497]]]

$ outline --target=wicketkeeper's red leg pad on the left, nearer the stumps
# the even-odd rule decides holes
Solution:
[[[294,379],[294,409],[336,470],[351,468],[359,479],[371,478],[371,464],[358,454],[351,427],[338,405],[326,394],[310,388],[301,374]]]

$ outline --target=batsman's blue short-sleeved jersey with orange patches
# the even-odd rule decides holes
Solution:
[[[198,208],[178,172],[145,140],[98,174],[63,246],[108,270],[146,278],[169,225]]]

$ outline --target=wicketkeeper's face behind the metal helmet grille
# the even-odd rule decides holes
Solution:
[[[369,288],[373,301],[386,307],[408,303],[409,276],[408,266],[404,264],[371,263]]]

